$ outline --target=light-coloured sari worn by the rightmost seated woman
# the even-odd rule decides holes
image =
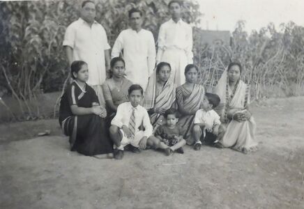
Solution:
[[[227,70],[225,70],[214,93],[220,96],[221,104],[217,111],[221,116],[221,121],[227,125],[225,135],[220,141],[221,144],[239,151],[255,148],[257,142],[254,141],[256,129],[254,118],[251,116],[248,121],[243,122],[230,121],[227,118],[228,112],[236,114],[247,108],[250,103],[249,86],[240,80],[234,91],[229,93]]]

